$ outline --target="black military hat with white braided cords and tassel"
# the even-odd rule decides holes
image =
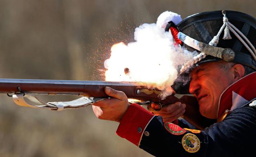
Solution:
[[[256,18],[251,15],[238,11],[208,11],[188,16],[176,28],[181,32],[178,38],[183,42],[182,46],[189,51],[206,52],[185,63],[183,71],[219,60],[256,69]],[[184,85],[176,81],[173,87],[176,93],[189,93],[189,83]]]

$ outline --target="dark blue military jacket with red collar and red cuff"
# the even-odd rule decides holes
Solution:
[[[224,119],[204,130],[183,128],[189,127],[184,120],[163,123],[162,117],[132,104],[117,134],[157,157],[255,156],[255,78],[256,73],[247,75],[222,93],[217,117]]]

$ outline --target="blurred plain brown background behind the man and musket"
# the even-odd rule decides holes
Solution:
[[[111,45],[133,41],[135,27],[156,22],[163,11],[185,18],[226,9],[255,17],[255,4],[255,0],[0,0],[0,77],[103,80],[101,69]],[[46,102],[72,98],[42,97]],[[115,135],[118,124],[98,120],[91,107],[56,112],[16,106],[5,94],[0,100],[0,157],[151,157]]]

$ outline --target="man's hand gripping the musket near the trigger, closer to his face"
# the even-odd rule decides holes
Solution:
[[[173,122],[178,117],[185,113],[186,105],[181,102],[176,102],[170,105],[162,106],[160,111],[151,111],[154,115],[161,116],[163,122]]]

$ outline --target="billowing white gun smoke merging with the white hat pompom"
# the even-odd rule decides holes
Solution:
[[[135,42],[114,44],[110,58],[104,62],[105,80],[145,82],[161,90],[162,99],[171,95],[178,67],[197,53],[175,44],[172,34],[165,31],[169,21],[178,24],[181,16],[165,11],[156,24],[145,23],[135,29]]]

